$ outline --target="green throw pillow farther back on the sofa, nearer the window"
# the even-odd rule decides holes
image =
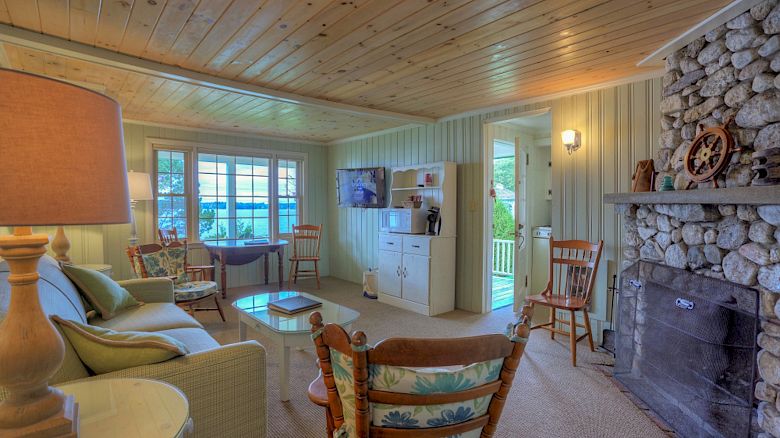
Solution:
[[[141,304],[125,288],[98,271],[73,265],[62,265],[62,271],[103,319],[111,319],[117,311]]]

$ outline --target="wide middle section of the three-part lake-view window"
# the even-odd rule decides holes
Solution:
[[[200,240],[271,236],[269,158],[198,154]]]

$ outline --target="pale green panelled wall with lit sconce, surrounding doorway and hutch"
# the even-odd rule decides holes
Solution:
[[[456,306],[480,312],[482,293],[483,123],[550,108],[552,113],[552,226],[559,239],[604,240],[609,278],[622,261],[622,223],[604,193],[628,191],[637,160],[652,158],[660,133],[660,79],[471,115],[456,120],[339,143],[328,150],[330,274],[360,282],[377,265],[378,211],[336,208],[335,170],[402,166],[449,160],[458,163]],[[560,132],[577,129],[582,148],[569,156]],[[606,281],[593,312],[606,317]]]

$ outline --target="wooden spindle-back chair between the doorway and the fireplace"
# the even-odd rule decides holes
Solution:
[[[588,307],[603,245],[604,242],[601,240],[594,244],[585,240],[555,240],[551,237],[547,287],[540,294],[526,298],[526,302],[531,307],[539,305],[550,308],[549,322],[533,326],[531,330],[548,330],[552,339],[555,339],[556,333],[568,335],[571,344],[571,364],[575,367],[577,366],[577,342],[587,337],[590,351],[594,351]],[[569,313],[568,331],[556,326],[558,310]],[[582,312],[584,324],[577,322],[576,312],[579,311]],[[565,324],[566,321],[561,323]],[[577,337],[577,327],[585,329],[585,333],[579,337]]]

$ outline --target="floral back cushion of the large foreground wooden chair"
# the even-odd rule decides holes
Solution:
[[[355,436],[355,388],[352,359],[331,349],[331,365],[336,389],[341,399],[344,424],[336,437]],[[498,380],[503,359],[474,363],[451,369],[406,368],[386,365],[369,366],[369,388],[405,394],[458,392]],[[371,403],[371,423],[395,428],[430,428],[458,424],[485,415],[491,396],[464,402],[427,406],[386,405]],[[478,437],[481,428],[458,435]]]

